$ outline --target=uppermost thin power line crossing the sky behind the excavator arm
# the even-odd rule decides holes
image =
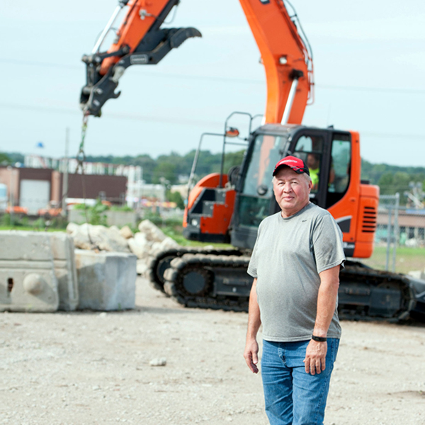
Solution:
[[[78,69],[82,70],[81,65],[70,65],[70,64],[55,64],[52,62],[36,62],[26,60],[12,60],[0,58],[0,63],[16,64],[25,66],[35,67],[55,67],[63,69]],[[166,72],[147,72],[145,75],[150,77],[161,77],[161,78],[175,78],[175,79],[189,79],[189,80],[200,80],[200,81],[222,81],[232,84],[265,84],[265,81],[259,79],[240,79],[237,77],[212,77],[203,75],[189,75],[189,74],[169,74]],[[314,84],[317,89],[324,90],[342,90],[342,91],[368,91],[375,93],[392,93],[392,94],[425,94],[425,89],[399,89],[396,87],[364,87],[364,86],[333,86],[329,84]]]

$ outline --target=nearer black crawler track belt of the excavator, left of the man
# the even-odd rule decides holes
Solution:
[[[174,298],[177,302],[186,307],[211,308],[214,310],[232,310],[235,312],[247,312],[249,297],[212,297],[189,296],[181,291],[181,281],[188,271],[198,270],[210,274],[210,289],[213,288],[212,270],[214,267],[220,268],[242,268],[242,273],[246,273],[249,264],[249,256],[227,256],[213,254],[185,254],[180,258],[171,261],[171,267],[164,273],[165,293]]]

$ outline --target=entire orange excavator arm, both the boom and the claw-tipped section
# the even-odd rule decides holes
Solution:
[[[118,98],[115,92],[125,69],[133,64],[157,64],[181,43],[201,37],[196,28],[162,28],[180,0],[120,0],[90,55],[84,55],[86,85],[80,106],[87,115],[101,115],[103,104]],[[300,124],[313,98],[312,54],[294,12],[283,0],[239,0],[261,53],[266,71],[265,123]],[[120,10],[127,7],[116,40],[107,52],[101,44]]]

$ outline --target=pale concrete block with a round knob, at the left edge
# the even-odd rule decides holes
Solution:
[[[0,311],[55,312],[59,293],[46,232],[0,232]]]

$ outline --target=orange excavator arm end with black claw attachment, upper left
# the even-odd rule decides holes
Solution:
[[[172,49],[191,37],[201,37],[196,28],[162,28],[166,16],[179,0],[120,0],[90,55],[84,55],[86,85],[80,106],[85,115],[101,115],[103,104],[115,93],[118,80],[131,65],[157,64]],[[101,44],[121,9],[127,7],[116,39],[107,52]]]

